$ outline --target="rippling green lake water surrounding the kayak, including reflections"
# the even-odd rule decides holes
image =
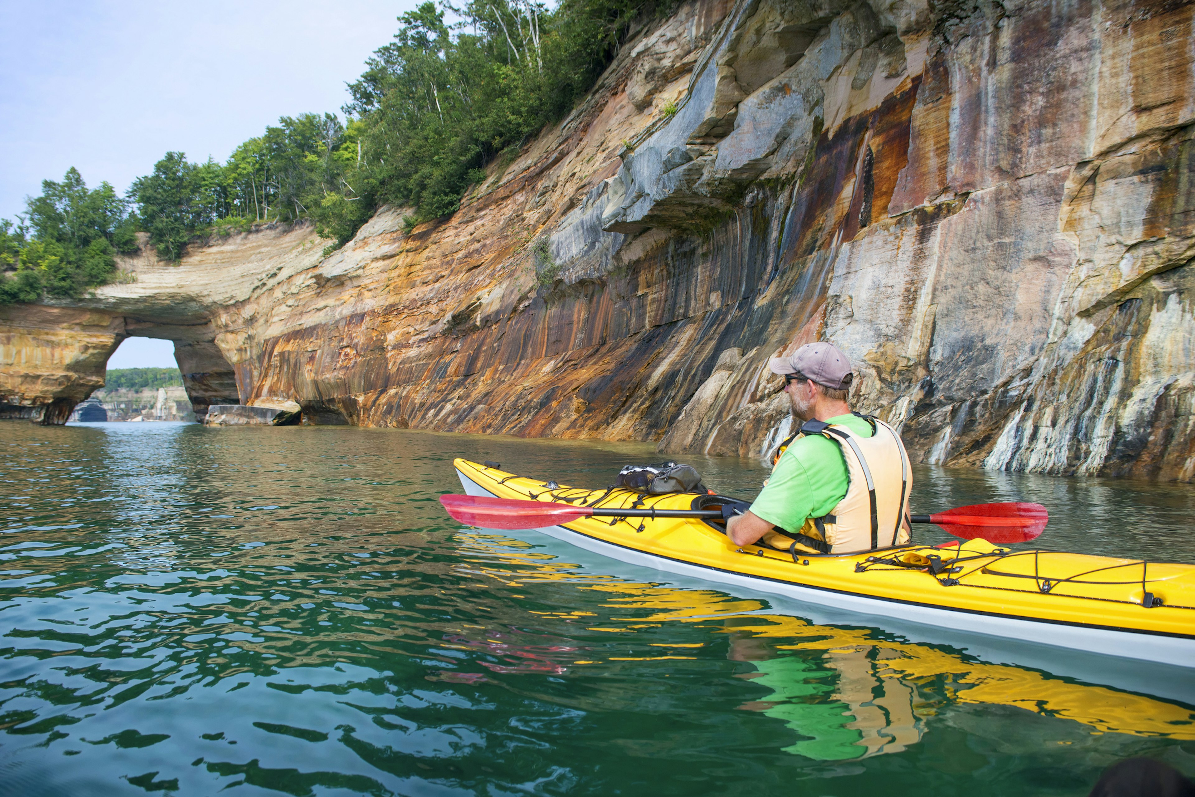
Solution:
[[[1084,795],[1130,755],[1195,774],[1173,673],[831,625],[436,501],[454,455],[599,486],[648,446],[0,429],[2,795]],[[724,492],[766,476],[685,459]],[[917,478],[919,511],[1034,499],[1043,547],[1195,562],[1188,486]]]

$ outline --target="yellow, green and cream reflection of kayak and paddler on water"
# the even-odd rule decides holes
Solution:
[[[749,661],[746,675],[772,689],[741,709],[783,721],[803,738],[786,748],[808,758],[846,760],[896,753],[920,741],[925,718],[950,704],[1016,706],[1061,717],[1096,731],[1195,740],[1195,715],[1181,705],[1109,687],[1076,683],[1010,664],[968,661],[929,644],[880,640],[866,629],[811,625],[784,614],[764,613],[762,601],[736,599],[712,589],[676,589],[620,581],[559,560],[523,541],[497,534],[462,533],[461,570],[509,586],[568,582],[602,593],[603,606],[635,617],[607,617],[592,631],[633,633],[670,623],[721,623],[733,634],[730,658]],[[648,614],[644,617],[644,612]],[[592,612],[533,612],[559,619],[595,617]],[[788,644],[765,645],[765,638]],[[654,643],[661,648],[700,644]],[[821,651],[777,656],[777,650]],[[697,658],[682,655],[609,657],[606,661]],[[588,660],[576,664],[593,663]],[[860,752],[860,748],[862,752]]]

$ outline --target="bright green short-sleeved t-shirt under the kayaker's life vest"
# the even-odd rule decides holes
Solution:
[[[846,427],[860,437],[871,436],[871,424],[857,415],[840,415],[826,423]],[[850,484],[842,449],[825,435],[797,437],[772,468],[750,510],[773,526],[797,532],[809,517],[834,511]]]

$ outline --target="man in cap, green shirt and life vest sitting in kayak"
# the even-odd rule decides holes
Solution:
[[[777,449],[772,476],[750,509],[728,517],[730,540],[808,553],[907,542],[908,454],[895,429],[851,411],[847,356],[831,343],[807,343],[770,367],[784,376],[802,425]]]

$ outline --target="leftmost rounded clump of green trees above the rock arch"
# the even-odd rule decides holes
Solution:
[[[75,168],[25,206],[22,223],[0,220],[0,305],[78,298],[111,278],[116,252],[136,251],[128,203],[108,183],[88,190]]]

